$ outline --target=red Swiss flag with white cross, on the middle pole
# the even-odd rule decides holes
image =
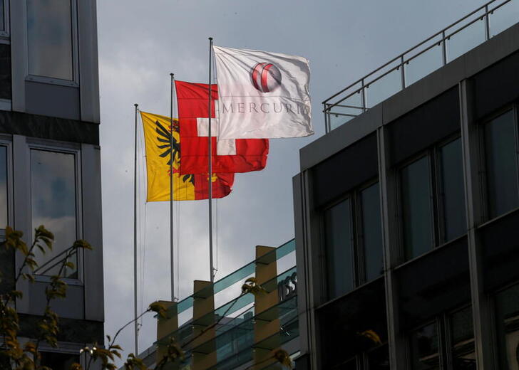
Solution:
[[[180,174],[207,174],[209,142],[209,85],[175,81],[180,126]],[[211,117],[215,118],[217,85],[211,85]],[[268,139],[217,140],[217,120],[212,120],[212,172],[217,174],[260,171],[267,164]]]

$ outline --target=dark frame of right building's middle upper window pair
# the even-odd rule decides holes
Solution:
[[[429,201],[430,207],[431,207],[431,240],[432,240],[432,248],[431,250],[434,250],[438,247],[441,247],[441,245],[451,243],[451,241],[456,240],[460,237],[462,237],[464,234],[461,234],[461,236],[457,236],[456,238],[452,238],[450,240],[447,240],[446,238],[446,231],[445,231],[445,209],[443,207],[443,189],[442,189],[442,180],[443,180],[443,174],[441,171],[441,152],[440,149],[448,144],[451,144],[451,142],[456,141],[457,139],[461,140],[461,132],[456,132],[454,134],[448,135],[448,137],[445,137],[444,139],[435,142],[434,144],[430,145],[426,149],[423,149],[421,152],[419,152],[416,155],[413,155],[412,157],[409,157],[408,159],[404,160],[403,162],[400,162],[395,166],[396,171],[396,186],[395,186],[395,199],[396,199],[396,214],[397,214],[397,240],[399,245],[398,250],[398,259],[399,264],[407,263],[408,261],[414,260],[415,258],[420,258],[422,255],[425,255],[426,253],[423,253],[421,255],[416,255],[415,257],[407,258],[406,255],[406,245],[404,243],[404,209],[403,209],[403,200],[404,200],[404,194],[403,194],[403,186],[402,186],[402,178],[401,174],[403,169],[406,166],[409,166],[410,164],[413,164],[414,162],[419,161],[423,157],[428,157],[428,174],[430,176],[430,181],[428,184],[429,191],[431,194],[431,199]],[[463,156],[463,152],[460,154]],[[463,192],[465,192],[465,189],[463,189]],[[428,250],[430,252],[431,250]]]

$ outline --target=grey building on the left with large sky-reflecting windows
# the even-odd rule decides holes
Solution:
[[[98,90],[95,0],[0,1],[0,238],[6,225],[27,243],[42,224],[55,235],[52,253],[36,253],[36,282],[16,284],[22,339],[36,337],[53,261],[76,239],[94,248],[72,256],[67,297],[52,303],[59,347],[42,351],[53,369],[103,343]],[[2,255],[2,290],[14,288],[21,263]]]

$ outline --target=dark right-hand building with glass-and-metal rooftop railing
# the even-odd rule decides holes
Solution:
[[[499,3],[475,48],[449,54],[463,28],[420,51],[443,56],[423,78],[403,55],[325,103],[293,182],[298,370],[519,369],[519,24],[489,28],[518,1]]]

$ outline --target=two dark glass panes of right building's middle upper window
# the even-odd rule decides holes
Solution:
[[[466,233],[461,139],[436,144],[400,169],[403,258]]]

